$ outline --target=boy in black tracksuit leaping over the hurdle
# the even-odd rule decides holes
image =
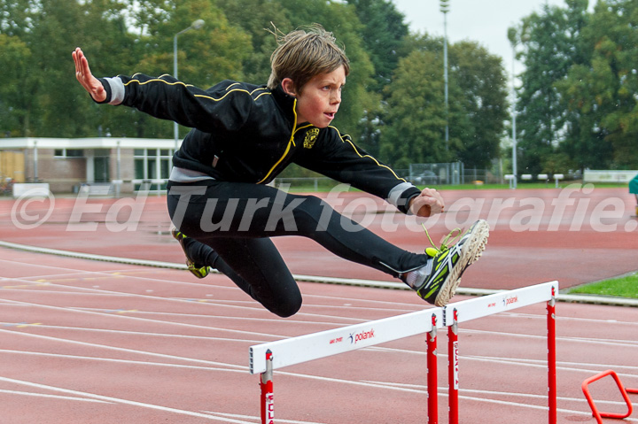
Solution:
[[[135,107],[193,128],[173,156],[167,186],[172,234],[191,273],[210,268],[281,317],[301,307],[300,289],[270,240],[301,235],[341,258],[401,279],[419,297],[446,305],[467,266],[485,250],[489,227],[478,220],[453,246],[404,251],[314,196],[268,186],[292,163],[351,184],[427,217],[444,212],[435,189],[419,190],[331,127],[350,64],[331,33],[315,25],[279,40],[265,86],[222,81],[198,89],[168,75],[95,78],[81,49],[77,80],[97,103]]]

